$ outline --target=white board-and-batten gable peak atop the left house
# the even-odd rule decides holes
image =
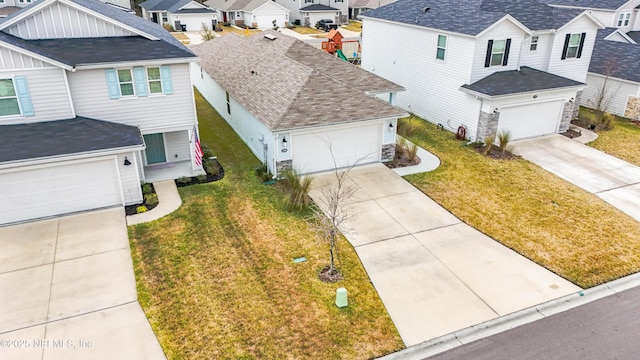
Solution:
[[[137,35],[87,12],[55,3],[23,21],[9,26],[5,32],[22,39],[87,38]]]

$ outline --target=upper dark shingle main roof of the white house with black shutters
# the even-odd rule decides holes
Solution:
[[[531,0],[398,0],[363,17],[477,35],[507,14],[531,30],[549,30],[566,24],[580,11]]]

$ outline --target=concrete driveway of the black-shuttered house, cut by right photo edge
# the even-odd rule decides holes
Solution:
[[[516,141],[509,148],[640,221],[640,167],[562,135]]]

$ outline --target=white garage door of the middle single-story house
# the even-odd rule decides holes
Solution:
[[[293,166],[301,173],[326,171],[380,160],[381,125],[292,135]],[[329,148],[331,146],[331,150]]]

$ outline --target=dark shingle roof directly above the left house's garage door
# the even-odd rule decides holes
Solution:
[[[76,117],[0,125],[0,162],[142,147],[135,126]]]

